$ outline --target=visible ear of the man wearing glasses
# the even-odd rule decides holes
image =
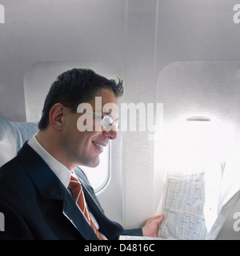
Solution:
[[[52,108],[50,109],[49,122],[50,125],[56,130],[62,129],[63,110],[64,107],[61,103],[54,104],[54,106],[52,106]]]

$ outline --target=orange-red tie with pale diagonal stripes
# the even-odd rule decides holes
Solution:
[[[78,181],[78,178],[74,171],[71,171],[71,178],[68,188],[72,191],[74,200],[78,204],[80,210],[82,210],[82,214],[86,217],[87,221],[90,223],[90,226],[93,228],[94,232],[97,234],[100,240],[104,240],[101,235],[98,233],[94,222],[91,220],[89,212],[86,207],[85,197],[82,191],[81,183]]]

